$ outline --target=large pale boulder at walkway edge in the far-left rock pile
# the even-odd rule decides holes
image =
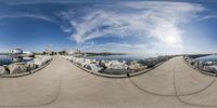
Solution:
[[[11,64],[11,65],[9,65],[10,75],[26,72],[27,68],[28,67],[25,64]]]

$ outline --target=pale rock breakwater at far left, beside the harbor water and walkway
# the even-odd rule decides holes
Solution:
[[[10,65],[0,66],[0,75],[18,75],[18,73],[30,73],[34,70],[43,67],[52,59],[51,56],[36,56],[30,62],[13,63]]]

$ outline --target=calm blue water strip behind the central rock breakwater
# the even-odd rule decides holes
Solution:
[[[112,59],[117,59],[117,60],[139,60],[139,59],[144,59],[148,58],[148,56],[144,55],[106,55],[106,56],[88,56],[86,58],[90,59],[106,59],[106,60],[112,60]]]

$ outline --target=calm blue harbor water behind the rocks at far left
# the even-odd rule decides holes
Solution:
[[[30,58],[30,57],[14,58],[10,55],[0,55],[0,66],[9,65],[11,63],[29,62],[29,60],[33,60],[33,58]]]

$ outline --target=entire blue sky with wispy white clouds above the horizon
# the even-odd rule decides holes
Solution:
[[[0,52],[217,53],[217,2],[1,1]]]

